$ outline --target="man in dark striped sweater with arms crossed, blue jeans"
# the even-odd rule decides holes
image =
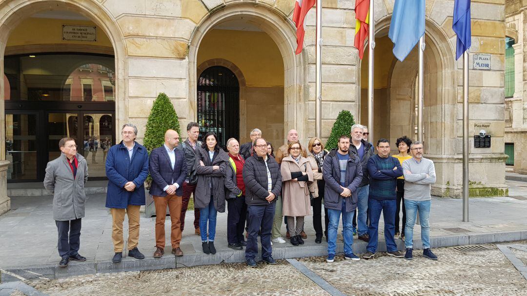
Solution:
[[[403,169],[399,160],[395,157],[390,157],[390,141],[387,139],[379,139],[377,141],[377,154],[369,157],[368,173],[369,242],[363,258],[370,259],[375,256],[379,236],[380,212],[383,212],[384,217],[384,239],[388,255],[403,258],[404,255],[397,251],[397,245],[394,240],[395,209],[397,207],[395,189],[397,187],[397,177],[403,175]]]

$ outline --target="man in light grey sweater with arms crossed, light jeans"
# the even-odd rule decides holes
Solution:
[[[412,158],[403,161],[404,173],[404,205],[406,208],[406,226],[404,229],[404,258],[412,260],[414,224],[419,212],[421,221],[421,241],[423,242],[423,256],[437,260],[437,256],[430,250],[430,195],[431,184],[435,183],[434,162],[423,157],[423,144],[415,141],[410,146]]]

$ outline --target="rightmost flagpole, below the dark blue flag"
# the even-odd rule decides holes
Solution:
[[[469,51],[463,53],[463,222],[469,222]]]

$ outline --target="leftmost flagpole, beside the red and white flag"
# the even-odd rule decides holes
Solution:
[[[315,86],[315,135],[322,139],[322,1],[317,0],[316,28],[316,86]]]

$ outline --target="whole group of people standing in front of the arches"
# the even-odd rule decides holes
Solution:
[[[327,241],[327,262],[337,253],[337,230],[342,219],[344,258],[360,260],[353,253],[354,235],[367,242],[364,259],[377,250],[381,213],[388,255],[413,258],[413,228],[417,212],[421,223],[423,256],[437,260],[430,250],[431,184],[435,183],[434,163],[423,157],[423,144],[403,136],[397,139],[397,155],[390,155],[391,144],[379,139],[368,142],[367,127],[355,124],[341,135],[330,151],[317,137],[307,147],[296,130],[287,133],[287,143],[275,155],[259,129],[250,132],[251,141],[240,145],[227,140],[226,151],[216,134],[209,132],[198,141],[199,125],[187,126],[187,139],[180,142],[178,132],[168,130],[164,144],[147,149],[135,141],[138,129],[122,127],[122,141],[106,155],[108,192],[106,207],[112,215],[113,263],[122,260],[123,221],[128,215],[128,256],[143,259],[138,249],[140,207],[145,204],[144,184],[151,176],[150,194],[155,204],[154,258],[165,249],[165,218],[171,216],[172,254],[183,256],[181,234],[190,197],[194,202],[194,234],[200,235],[202,251],[215,254],[217,213],[227,210],[228,247],[245,248],[249,267],[256,267],[258,236],[262,261],[276,264],[272,244],[304,244],[305,217],[313,215],[315,242]],[[59,143],[61,156],[46,167],[44,185],[53,193],[53,218],[58,231],[59,266],[70,260],[85,261],[79,254],[81,219],[84,217],[88,167],[77,153],[75,140]],[[374,153],[375,151],[376,153]],[[77,178],[78,177],[78,178]],[[402,204],[402,207],[401,207]],[[324,205],[324,224],[322,209]],[[402,228],[399,215],[402,210]],[[285,238],[281,226],[286,224]],[[244,232],[246,233],[244,235]],[[395,239],[403,239],[405,253],[397,250]]]

